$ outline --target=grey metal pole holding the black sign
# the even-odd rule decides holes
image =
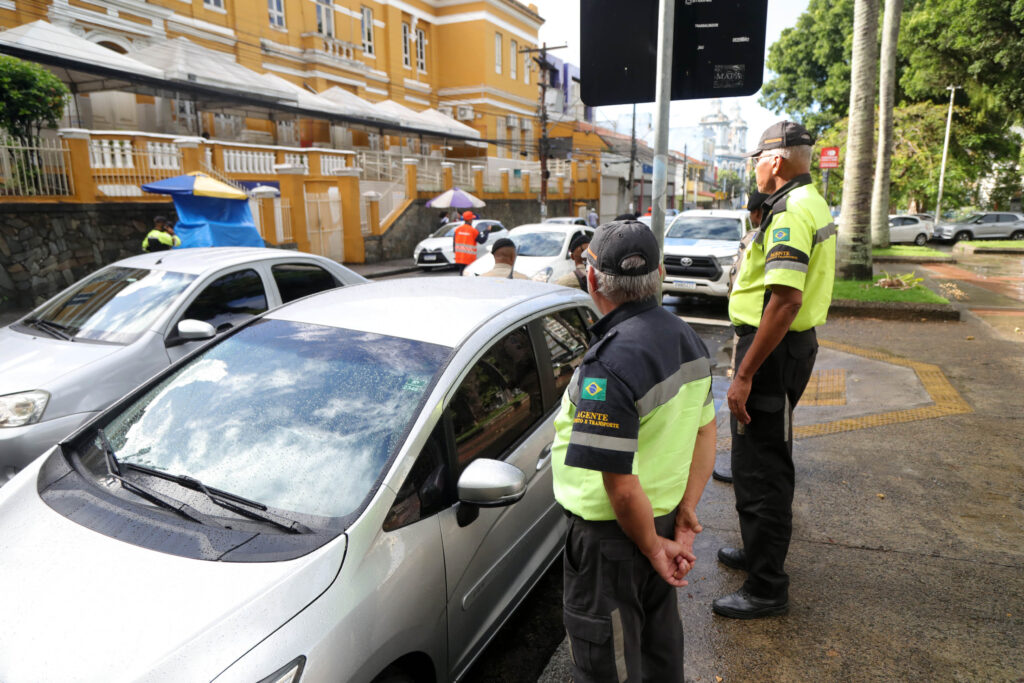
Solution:
[[[650,229],[665,253],[665,209],[669,172],[669,105],[672,103],[672,46],[676,0],[659,0],[657,26],[657,113],[654,118],[654,169]]]

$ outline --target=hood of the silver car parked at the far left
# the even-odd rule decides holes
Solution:
[[[117,353],[123,346],[70,342],[0,329],[0,396],[47,389],[55,380]]]

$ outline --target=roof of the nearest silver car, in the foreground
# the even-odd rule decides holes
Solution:
[[[343,287],[275,308],[265,317],[358,330],[458,346],[505,311],[523,315],[550,305],[586,301],[567,287],[496,278],[432,278]]]

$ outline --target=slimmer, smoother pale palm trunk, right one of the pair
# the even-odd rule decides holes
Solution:
[[[879,83],[879,151],[874,160],[874,190],[871,193],[871,244],[889,246],[889,169],[893,153],[893,104],[896,94],[896,44],[903,0],[886,0],[882,27],[882,65]]]

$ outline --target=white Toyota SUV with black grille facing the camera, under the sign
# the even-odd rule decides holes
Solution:
[[[729,296],[729,268],[749,229],[746,211],[700,209],[676,216],[665,231],[663,292]]]

